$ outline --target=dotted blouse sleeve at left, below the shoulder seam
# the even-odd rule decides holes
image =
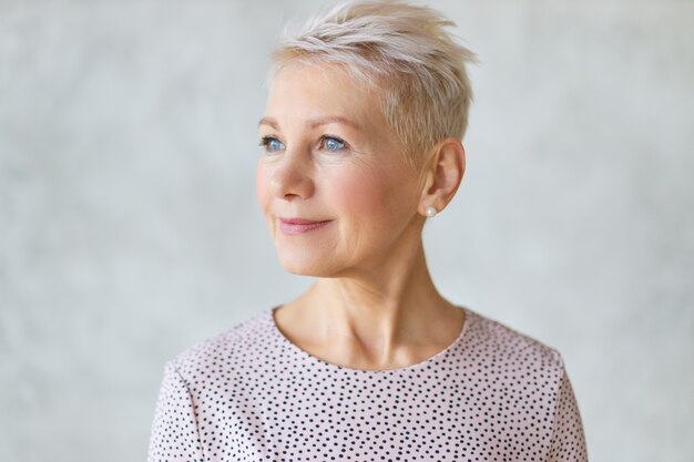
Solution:
[[[147,462],[204,461],[195,409],[174,362],[166,362],[151,427]]]

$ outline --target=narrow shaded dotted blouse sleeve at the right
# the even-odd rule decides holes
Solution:
[[[557,391],[554,424],[547,460],[548,462],[588,462],[579,404],[561,356],[559,359],[561,361],[561,379]]]

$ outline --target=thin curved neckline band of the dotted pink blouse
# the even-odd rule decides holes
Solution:
[[[416,371],[419,369],[425,368],[426,366],[443,358],[447,353],[449,353],[453,348],[456,348],[456,346],[458,346],[458,343],[460,343],[462,341],[462,339],[466,337],[466,333],[468,332],[468,326],[470,325],[470,320],[472,319],[472,311],[462,306],[462,305],[456,305],[457,308],[461,309],[465,312],[465,319],[462,322],[462,329],[460,329],[460,332],[458,333],[458,336],[456,337],[456,339],[449,343],[446,348],[443,348],[442,350],[438,351],[437,353],[435,353],[433,356],[430,356],[429,358],[426,358],[419,362],[416,362],[414,365],[410,366],[405,366],[401,368],[394,368],[394,369],[355,369],[355,368],[349,368],[346,366],[339,366],[339,365],[335,365],[333,362],[328,362],[324,359],[320,359],[312,353],[309,353],[306,350],[303,350],[300,347],[298,347],[297,345],[295,345],[293,341],[290,341],[287,337],[285,337],[285,335],[282,332],[282,330],[279,330],[279,327],[277,326],[277,322],[275,321],[275,311],[277,309],[279,309],[283,305],[275,305],[273,307],[271,307],[269,309],[266,310],[266,316],[268,318],[271,328],[274,332],[275,336],[277,336],[279,338],[279,341],[285,345],[287,348],[289,348],[290,350],[295,351],[296,353],[298,353],[299,356],[310,360],[314,363],[317,363],[319,366],[323,366],[325,368],[331,369],[331,370],[336,370],[336,371],[344,371],[344,372],[350,372],[350,373],[392,373],[392,372],[408,372],[408,371]]]

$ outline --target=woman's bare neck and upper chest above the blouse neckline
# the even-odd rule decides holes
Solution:
[[[371,269],[317,278],[276,311],[277,327],[304,351],[353,369],[408,367],[443,350],[463,312],[433,286],[420,239],[399,250]]]

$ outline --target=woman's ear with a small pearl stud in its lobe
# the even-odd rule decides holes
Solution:
[[[431,151],[425,167],[423,188],[419,198],[419,213],[427,216],[427,207],[441,212],[453,198],[466,170],[466,153],[460,140],[448,137]]]

